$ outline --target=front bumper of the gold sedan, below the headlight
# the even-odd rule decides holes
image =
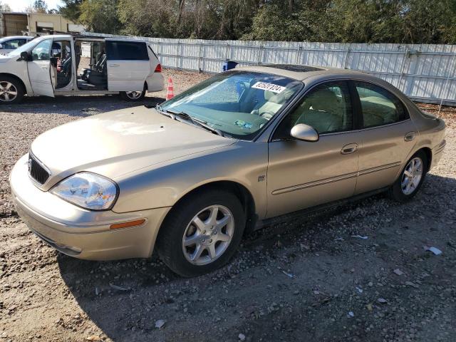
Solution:
[[[93,212],[38,189],[28,177],[28,155],[11,171],[11,195],[16,211],[38,237],[58,251],[90,260],[150,257],[169,207],[117,213]],[[111,224],[146,219],[125,229]]]

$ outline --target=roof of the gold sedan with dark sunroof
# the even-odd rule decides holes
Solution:
[[[314,76],[330,76],[333,74],[353,76],[367,76],[366,73],[341,68],[327,68],[323,66],[301,66],[295,64],[262,64],[259,66],[243,66],[236,68],[241,71],[256,71],[259,73],[272,73],[274,75],[285,76],[295,80],[304,81],[306,78]]]

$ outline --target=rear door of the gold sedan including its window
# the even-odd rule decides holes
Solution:
[[[362,122],[356,194],[387,187],[398,177],[418,132],[407,108],[393,93],[373,83],[354,81]]]

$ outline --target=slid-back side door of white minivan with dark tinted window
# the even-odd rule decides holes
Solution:
[[[144,41],[106,39],[108,90],[142,91],[150,74],[149,54]]]

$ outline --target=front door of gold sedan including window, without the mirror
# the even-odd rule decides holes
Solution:
[[[313,127],[318,141],[292,138],[291,128],[299,123]],[[269,142],[267,217],[354,194],[361,136],[353,123],[345,81],[323,83],[304,95]]]

